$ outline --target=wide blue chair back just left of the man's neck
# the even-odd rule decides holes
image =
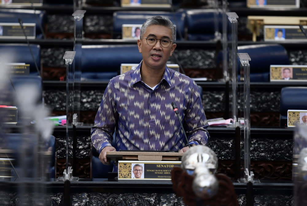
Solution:
[[[138,64],[141,61],[137,44],[84,45],[81,80],[109,81],[120,73],[121,63]]]

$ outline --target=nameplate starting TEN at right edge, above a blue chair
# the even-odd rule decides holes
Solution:
[[[270,81],[307,81],[307,66],[270,65]]]

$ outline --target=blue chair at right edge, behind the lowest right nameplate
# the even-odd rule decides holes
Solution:
[[[280,92],[280,126],[287,126],[288,110],[307,110],[307,87],[284,87]]]

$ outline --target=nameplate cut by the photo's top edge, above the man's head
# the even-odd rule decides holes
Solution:
[[[130,6],[130,7],[171,7],[172,0],[122,0],[121,6]]]

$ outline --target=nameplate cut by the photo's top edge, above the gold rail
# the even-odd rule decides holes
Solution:
[[[287,1],[279,1],[279,0],[247,0],[247,7],[252,8],[263,8],[263,7],[289,7],[289,8],[299,8],[300,1],[299,0],[287,0]]]

